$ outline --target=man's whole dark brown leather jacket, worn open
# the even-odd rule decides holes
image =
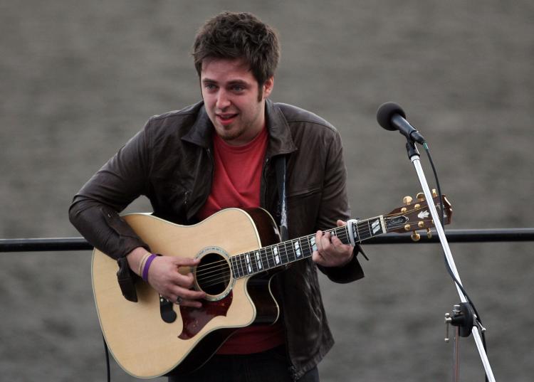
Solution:
[[[337,219],[350,218],[346,169],[336,129],[310,112],[270,100],[266,121],[269,142],[261,206],[279,221],[273,159],[286,155],[289,238],[333,228]],[[150,118],[74,197],[70,221],[92,245],[113,258],[124,257],[139,246],[149,249],[118,216],[140,195],[149,198],[155,216],[179,224],[196,223],[211,190],[213,131],[202,102]],[[344,267],[320,270],[335,282],[363,277],[356,255]],[[334,340],[316,265],[310,258],[296,262],[274,282],[281,293],[287,350],[296,379],[323,359]]]

